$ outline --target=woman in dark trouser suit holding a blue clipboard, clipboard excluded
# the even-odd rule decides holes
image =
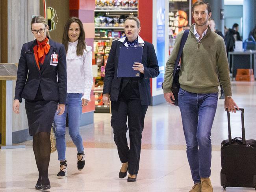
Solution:
[[[126,37],[113,41],[106,65],[103,102],[111,101],[111,126],[117,145],[122,167],[119,178],[124,178],[129,172],[127,181],[134,182],[139,171],[141,152],[141,138],[144,128],[144,118],[151,103],[150,80],[159,75],[158,60],[154,46],[139,37],[141,30],[137,17],[127,17],[124,22]],[[139,77],[118,78],[117,68],[120,47],[143,47],[141,63],[135,62],[133,70]],[[132,57],[132,55],[131,55]],[[128,118],[128,127],[126,121]],[[130,148],[128,147],[126,132],[129,129]]]

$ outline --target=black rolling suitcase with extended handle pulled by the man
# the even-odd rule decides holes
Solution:
[[[237,109],[236,109],[237,110]],[[221,143],[221,186],[252,187],[256,189],[256,141],[245,140],[243,113],[242,138],[231,137],[230,113],[228,113],[228,139]]]

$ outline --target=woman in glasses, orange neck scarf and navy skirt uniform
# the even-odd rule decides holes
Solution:
[[[56,110],[65,110],[67,96],[66,53],[62,44],[52,41],[44,17],[32,18],[34,41],[23,44],[20,53],[13,111],[25,99],[30,136],[39,172],[36,189],[50,189],[50,131]],[[57,78],[58,72],[58,78]],[[57,109],[58,108],[58,109]]]

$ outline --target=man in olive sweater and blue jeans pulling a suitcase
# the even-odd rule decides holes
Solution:
[[[208,27],[211,17],[210,4],[197,1],[192,6],[195,24],[183,49],[178,93],[182,125],[187,144],[187,159],[194,186],[190,192],[212,192],[211,175],[211,127],[218,101],[218,75],[223,85],[224,108],[235,112],[238,108],[231,98],[228,59],[224,40]],[[171,92],[173,70],[184,31],[177,35],[173,52],[165,67],[163,92],[165,100],[173,103]],[[239,108],[238,108],[239,109]]]

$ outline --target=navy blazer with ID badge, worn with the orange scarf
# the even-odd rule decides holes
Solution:
[[[15,99],[22,102],[21,98],[34,100],[40,85],[42,96],[46,101],[58,101],[66,103],[67,97],[67,64],[66,52],[62,44],[49,39],[50,50],[45,56],[42,69],[40,70],[35,61],[33,47],[37,41],[23,44],[17,72]],[[51,55],[56,51],[58,65],[50,65]],[[58,79],[57,79],[58,72]]]

